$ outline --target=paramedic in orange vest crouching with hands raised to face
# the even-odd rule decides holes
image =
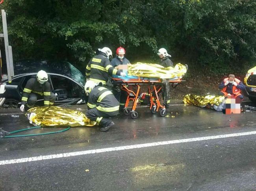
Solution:
[[[221,92],[219,95],[239,97],[241,100],[243,99],[242,90],[245,89],[245,85],[235,78],[234,74],[230,74],[228,78],[225,78],[221,84],[219,85],[219,89]]]

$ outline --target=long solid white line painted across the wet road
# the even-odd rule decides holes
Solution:
[[[71,152],[71,153],[60,153],[60,154],[55,154],[55,155],[45,155],[45,156],[41,155],[41,156],[34,156],[34,157],[29,157],[29,158],[2,160],[2,161],[0,161],[0,165],[16,164],[16,163],[22,163],[22,162],[32,162],[32,161],[39,161],[39,160],[48,160],[48,159],[53,159],[53,158],[63,158],[63,157],[70,157],[70,156],[88,155],[88,154],[95,154],[95,153],[105,153],[105,152],[110,152],[110,151],[122,151],[122,150],[128,150],[128,149],[138,149],[138,148],[154,147],[154,146],[169,145],[169,144],[176,144],[176,143],[195,142],[195,141],[211,140],[211,139],[217,139],[217,138],[255,135],[255,134],[256,134],[256,131],[250,131],[250,132],[244,132],[244,133],[232,133],[232,134],[225,134],[225,135],[204,136],[204,137],[186,138],[186,139],[180,139],[180,140],[152,142],[152,143],[146,143],[146,144],[128,145],[128,146],[120,146],[120,147],[109,147],[109,148],[104,148],[104,149],[93,149],[93,150],[78,151],[78,152]]]

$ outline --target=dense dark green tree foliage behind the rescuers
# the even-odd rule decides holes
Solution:
[[[16,59],[69,60],[84,68],[98,47],[122,45],[132,62],[174,62],[212,73],[255,64],[255,0],[8,0]]]

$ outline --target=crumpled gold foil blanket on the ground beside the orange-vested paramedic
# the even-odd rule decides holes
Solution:
[[[198,96],[195,94],[187,94],[186,96],[184,96],[183,102],[184,104],[198,107],[205,107],[207,104],[215,104],[219,106],[219,104],[223,102],[224,98],[224,96]]]

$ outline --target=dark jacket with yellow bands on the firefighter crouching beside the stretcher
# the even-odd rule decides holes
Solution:
[[[88,109],[95,108],[103,113],[108,113],[110,116],[115,116],[119,112],[119,102],[109,89],[97,85],[89,93],[87,102]]]

